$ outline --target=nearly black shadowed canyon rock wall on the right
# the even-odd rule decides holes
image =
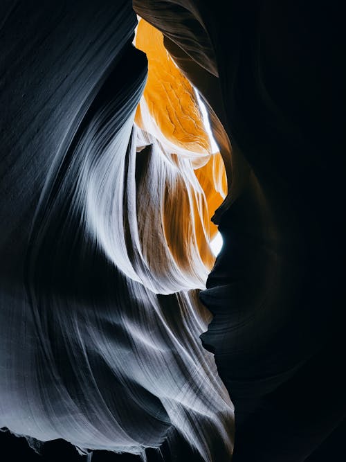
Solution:
[[[224,248],[201,300],[214,315],[203,344],[235,403],[234,459],[305,460],[346,407],[338,8],[134,5],[163,31],[232,145],[221,149]]]

